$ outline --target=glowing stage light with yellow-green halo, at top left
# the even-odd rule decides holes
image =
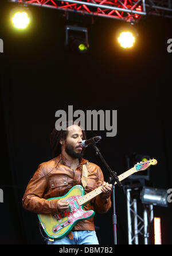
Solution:
[[[28,8],[18,7],[11,10],[10,18],[14,28],[25,29],[30,23],[31,14]]]

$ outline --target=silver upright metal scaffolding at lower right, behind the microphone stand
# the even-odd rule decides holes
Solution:
[[[153,221],[153,205],[142,205],[142,212],[138,213],[138,199],[134,196],[134,189],[126,189],[128,244],[149,244],[149,225]]]

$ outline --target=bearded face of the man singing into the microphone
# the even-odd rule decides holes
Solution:
[[[83,157],[83,146],[81,142],[83,141],[83,132],[81,128],[77,125],[72,125],[68,127],[68,135],[65,140],[65,152],[73,158]]]

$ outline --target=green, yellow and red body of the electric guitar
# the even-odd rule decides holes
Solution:
[[[69,211],[63,214],[38,214],[38,219],[46,235],[50,238],[61,239],[69,234],[78,221],[90,219],[95,215],[93,210],[86,211],[83,209],[84,205],[79,205],[77,200],[83,197],[84,193],[83,187],[76,185],[63,197],[47,199],[65,199],[70,203]]]

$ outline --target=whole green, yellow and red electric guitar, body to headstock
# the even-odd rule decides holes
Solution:
[[[157,160],[150,159],[135,164],[130,170],[119,175],[119,181],[126,179],[128,176],[138,171],[144,171],[150,165],[157,164]],[[108,184],[108,183],[107,183]],[[116,185],[116,182],[115,182]],[[92,198],[101,194],[101,186],[85,194],[84,189],[80,185],[72,187],[63,197],[49,198],[47,200],[64,199],[69,201],[69,210],[60,214],[38,214],[38,219],[44,232],[49,238],[60,239],[68,235],[75,224],[80,220],[90,219],[95,215],[93,210],[84,210],[84,205],[88,204]],[[85,194],[85,195],[84,195]]]

